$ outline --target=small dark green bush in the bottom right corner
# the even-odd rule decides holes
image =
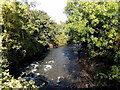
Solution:
[[[104,72],[104,70],[101,70],[98,72],[97,78],[99,79],[97,82],[98,85],[108,86],[112,84],[112,86],[119,86],[120,66],[113,65],[110,67],[110,70],[107,70],[106,72]]]

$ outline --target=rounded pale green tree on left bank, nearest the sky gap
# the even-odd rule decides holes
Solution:
[[[38,42],[42,42],[44,45],[52,44],[53,47],[60,46],[60,43],[58,43],[60,42],[60,36],[65,37],[65,35],[63,35],[61,25],[58,25],[56,22],[51,20],[47,13],[43,11],[29,11],[28,23],[24,28],[27,28],[29,34]],[[64,37],[60,38],[63,39]]]

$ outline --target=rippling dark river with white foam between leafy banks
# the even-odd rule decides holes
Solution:
[[[23,78],[35,80],[38,86],[44,83],[44,88],[76,87],[77,84],[82,85],[83,82],[90,81],[81,79],[85,77],[77,61],[78,53],[75,46],[51,49],[43,62],[36,61],[24,69],[26,75]]]

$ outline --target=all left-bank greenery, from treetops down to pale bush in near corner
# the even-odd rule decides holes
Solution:
[[[9,73],[17,73],[24,62],[47,50],[49,44],[58,45],[60,27],[43,11],[30,10],[20,2],[3,1],[0,88],[36,88],[33,81],[15,79]]]

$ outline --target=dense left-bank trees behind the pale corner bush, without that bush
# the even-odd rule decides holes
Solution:
[[[2,15],[2,51],[10,66],[19,67],[26,57],[42,53],[49,44],[57,44],[60,27],[45,12],[29,10],[19,2],[6,2]]]

